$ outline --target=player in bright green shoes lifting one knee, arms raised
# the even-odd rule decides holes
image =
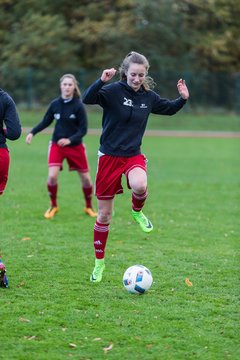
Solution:
[[[173,115],[186,103],[189,93],[180,79],[175,100],[161,98],[150,88],[153,80],[147,75],[149,63],[142,54],[131,52],[120,67],[120,81],[106,85],[116,74],[114,68],[102,72],[84,93],[85,104],[99,104],[103,108],[102,134],[98,152],[96,191],[98,216],[94,226],[95,267],[90,280],[100,282],[105,268],[104,255],[116,194],[123,192],[121,178],[126,176],[132,191],[132,217],[141,229],[153,230],[151,221],[142,209],[147,199],[146,157],[141,143],[150,113]]]

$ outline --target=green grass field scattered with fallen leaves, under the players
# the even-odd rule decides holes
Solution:
[[[0,252],[10,287],[0,289],[0,359],[239,359],[239,139],[145,137],[145,213],[154,231],[133,223],[124,185],[100,284],[89,281],[94,220],[83,214],[78,176],[66,165],[60,212],[43,218],[48,140],[9,142]],[[98,137],[85,143],[94,178]],[[142,296],[122,285],[135,263],[154,278]]]

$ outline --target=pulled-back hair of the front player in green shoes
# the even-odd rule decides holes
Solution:
[[[145,69],[146,69],[146,74],[148,73],[148,70],[150,68],[149,62],[147,60],[147,58],[142,55],[139,54],[135,51],[131,51],[129,54],[127,54],[127,56],[124,58],[120,68],[119,68],[119,72],[120,72],[120,79],[121,80],[126,80],[127,79],[127,71],[129,69],[130,64],[141,64],[144,65]],[[154,80],[150,77],[150,76],[146,76],[145,80],[143,82],[143,87],[145,90],[149,90],[154,88],[155,83]]]

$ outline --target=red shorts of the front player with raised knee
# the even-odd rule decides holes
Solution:
[[[140,167],[147,169],[147,158],[142,155],[131,157],[101,155],[98,159],[98,169],[95,182],[95,195],[99,200],[113,199],[116,194],[123,193],[122,174],[127,178],[132,169]]]

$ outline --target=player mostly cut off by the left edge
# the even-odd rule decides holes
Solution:
[[[0,89],[0,196],[3,194],[8,181],[10,165],[8,140],[17,140],[21,135],[21,124],[16,105],[11,96]],[[0,287],[8,287],[6,267],[0,254]]]

